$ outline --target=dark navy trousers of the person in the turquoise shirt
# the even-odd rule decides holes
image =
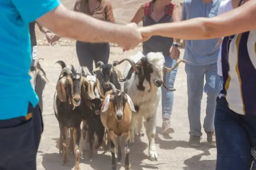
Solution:
[[[36,170],[36,155],[43,132],[38,105],[28,107],[28,115],[0,120],[0,170]]]

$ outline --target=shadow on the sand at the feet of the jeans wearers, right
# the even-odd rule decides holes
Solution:
[[[165,149],[165,150],[173,150],[178,147],[182,148],[191,148],[188,145],[187,141],[176,141],[176,140],[171,140],[173,139],[169,134],[163,135],[164,139],[168,139],[168,141],[164,141],[161,138],[159,138],[161,128],[157,127],[157,135],[155,136],[155,143],[159,144],[160,149]],[[200,148],[194,148],[199,151],[203,151],[203,153],[195,155],[189,159],[186,159],[184,161],[184,164],[187,165],[187,167],[184,167],[184,170],[214,170],[216,166],[216,160],[200,160],[203,156],[209,156],[210,151],[209,149],[211,148],[216,148],[216,146],[209,146],[207,142],[202,143],[202,147]]]

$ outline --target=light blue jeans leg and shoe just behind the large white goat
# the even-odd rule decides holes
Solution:
[[[173,67],[176,64],[176,61],[171,59],[170,56],[165,57],[165,66],[168,68]],[[174,81],[176,78],[178,67],[173,71],[167,73],[166,77],[166,86],[169,89],[173,89]],[[167,91],[162,85],[162,133],[174,133],[173,128],[171,128],[171,113],[173,109],[174,94],[173,91]]]

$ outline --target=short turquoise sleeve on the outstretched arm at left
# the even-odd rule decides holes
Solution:
[[[11,0],[24,22],[29,23],[59,6],[59,0]]]

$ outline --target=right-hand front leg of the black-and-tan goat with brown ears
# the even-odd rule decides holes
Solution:
[[[74,154],[75,154],[75,170],[80,170],[79,167],[79,156],[80,156],[80,143],[81,131],[80,127],[73,128],[73,139],[74,139]]]

